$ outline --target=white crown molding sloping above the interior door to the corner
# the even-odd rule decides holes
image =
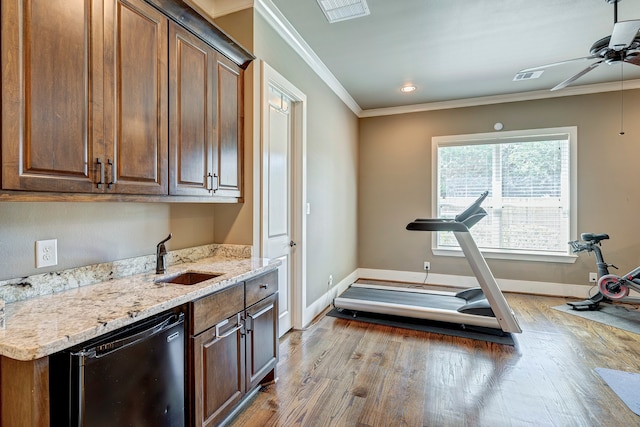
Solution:
[[[345,103],[351,111],[358,117],[362,113],[362,108],[351,97],[349,92],[340,84],[338,79],[329,71],[326,65],[320,60],[318,55],[311,49],[300,33],[284,17],[282,12],[273,4],[271,0],[255,0],[254,8],[264,17],[276,32],[282,37],[293,50],[300,55],[304,62],[325,82],[327,86]]]

